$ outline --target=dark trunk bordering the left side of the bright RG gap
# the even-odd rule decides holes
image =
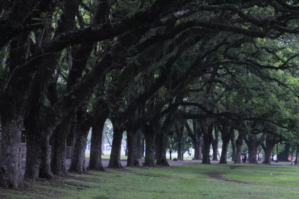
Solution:
[[[104,171],[102,164],[102,138],[105,128],[106,118],[99,118],[92,125],[91,142],[90,142],[90,156],[87,169]]]

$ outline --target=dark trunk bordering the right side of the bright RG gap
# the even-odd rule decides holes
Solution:
[[[112,121],[113,124],[113,140],[110,153],[109,168],[121,168],[121,140],[123,136],[123,130],[120,129],[116,122]]]

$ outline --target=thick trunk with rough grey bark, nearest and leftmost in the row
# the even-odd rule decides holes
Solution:
[[[15,106],[15,104],[11,106]],[[10,112],[9,116],[4,113],[1,109],[0,187],[24,188],[25,180],[21,164],[23,118],[18,113]]]

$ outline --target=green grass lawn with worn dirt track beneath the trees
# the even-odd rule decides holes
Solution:
[[[106,169],[54,181],[28,181],[26,190],[0,188],[0,198],[298,198],[298,167],[182,165]]]

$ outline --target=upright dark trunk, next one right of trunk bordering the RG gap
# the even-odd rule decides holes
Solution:
[[[128,131],[128,159],[127,166],[139,166],[138,156],[140,153],[140,144],[138,143],[138,132]]]

